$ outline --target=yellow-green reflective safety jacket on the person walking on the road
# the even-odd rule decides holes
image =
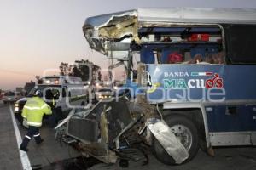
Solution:
[[[22,111],[22,117],[26,118],[27,125],[41,127],[44,114],[51,115],[52,111],[43,99],[32,97],[26,101]]]

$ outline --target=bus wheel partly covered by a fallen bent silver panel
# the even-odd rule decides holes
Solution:
[[[193,159],[199,149],[199,139],[195,124],[185,116],[167,116],[166,123],[172,129],[172,132],[181,141],[186,150],[189,151],[189,158],[183,163]],[[153,139],[152,152],[154,156],[167,165],[175,165],[175,161],[170,156],[157,139]]]

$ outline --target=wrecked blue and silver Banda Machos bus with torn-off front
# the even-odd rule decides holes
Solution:
[[[125,65],[116,98],[72,111],[64,136],[84,156],[166,164],[199,147],[256,144],[256,10],[137,8],[88,18],[90,48]],[[64,124],[61,123],[62,124]],[[61,125],[59,126],[61,128]],[[138,145],[139,144],[139,145]]]

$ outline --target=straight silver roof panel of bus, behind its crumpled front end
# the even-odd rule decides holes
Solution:
[[[256,24],[256,9],[245,8],[137,8],[139,22],[194,22]]]

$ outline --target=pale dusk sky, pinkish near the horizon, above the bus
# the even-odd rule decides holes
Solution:
[[[139,7],[256,8],[255,0],[0,0],[0,89],[58,70],[61,62],[89,59],[107,67],[102,54],[92,52],[82,26],[89,16]]]

